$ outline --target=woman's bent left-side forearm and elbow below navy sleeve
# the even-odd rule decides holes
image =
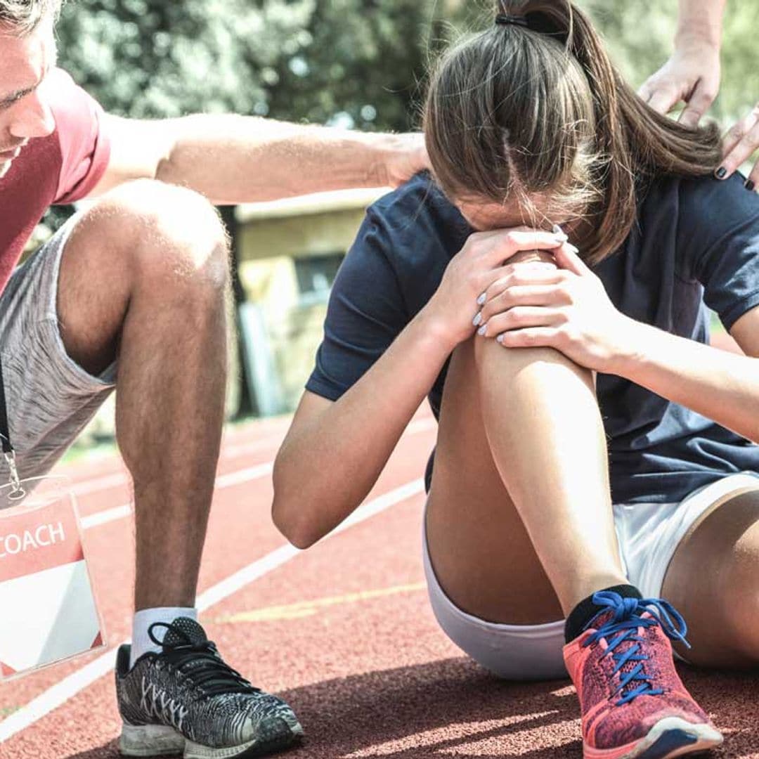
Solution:
[[[342,398],[298,423],[274,468],[276,523],[305,548],[372,489],[455,346],[423,310]]]

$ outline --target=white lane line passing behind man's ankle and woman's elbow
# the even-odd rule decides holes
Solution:
[[[389,493],[385,493],[361,505],[338,528],[332,531],[328,537],[339,534],[354,524],[358,524],[365,519],[379,514],[379,512],[383,512],[385,509],[389,509],[392,505],[396,505],[423,492],[424,480],[413,480],[401,487],[397,487],[395,490],[391,490]],[[247,584],[282,566],[294,556],[298,556],[299,553],[301,551],[290,545],[280,546],[271,553],[267,553],[263,558],[257,559],[257,561],[247,565],[247,567],[242,568],[239,572],[235,572],[234,575],[213,585],[213,587],[209,587],[207,591],[200,594],[197,599],[198,610],[203,612],[210,606],[214,606],[219,601],[240,591]],[[128,641],[124,642],[127,643]],[[71,672],[71,675],[62,679],[61,682],[52,685],[46,691],[39,694],[39,696],[33,698],[26,706],[7,716],[5,720],[0,722],[0,743],[27,729],[27,727],[42,719],[43,716],[52,712],[52,710],[57,709],[65,704],[66,701],[74,698],[77,693],[83,691],[88,685],[92,685],[93,682],[107,675],[113,669],[114,660],[115,650],[111,649],[106,653],[102,653],[95,660],[86,664],[81,669],[77,669],[76,672]]]

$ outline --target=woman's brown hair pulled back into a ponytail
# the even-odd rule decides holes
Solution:
[[[707,175],[715,125],[689,129],[650,109],[569,0],[499,0],[493,25],[443,56],[425,109],[430,159],[454,197],[550,196],[584,222],[583,257],[625,240],[636,191],[654,174]]]

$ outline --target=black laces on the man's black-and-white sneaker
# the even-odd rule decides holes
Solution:
[[[172,640],[166,641],[166,633],[161,641],[153,635],[155,628],[165,628],[172,632]],[[260,693],[260,688],[251,685],[236,669],[232,669],[222,657],[213,641],[194,641],[178,625],[153,622],[148,628],[150,640],[162,647],[158,656],[178,669],[197,685],[206,698],[219,694]]]

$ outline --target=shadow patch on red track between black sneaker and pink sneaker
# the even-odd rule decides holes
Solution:
[[[282,697],[308,735],[293,759],[501,759],[511,745],[528,759],[580,754],[568,682],[504,682],[465,657],[321,682]],[[557,728],[558,743],[537,739]]]

